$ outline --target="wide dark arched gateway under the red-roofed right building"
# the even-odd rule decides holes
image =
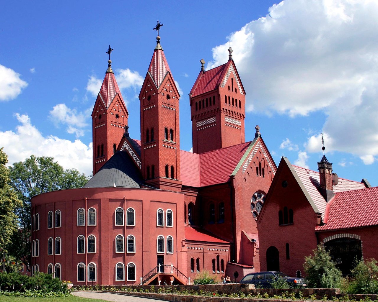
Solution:
[[[350,270],[362,258],[361,240],[358,239],[337,238],[325,242],[324,247],[343,275],[350,274]]]

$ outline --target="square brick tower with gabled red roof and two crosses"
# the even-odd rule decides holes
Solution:
[[[245,90],[228,49],[228,62],[201,71],[189,94],[193,152],[204,153],[245,142]]]

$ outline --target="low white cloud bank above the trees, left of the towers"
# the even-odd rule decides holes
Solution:
[[[19,121],[15,131],[0,131],[0,142],[8,154],[9,165],[34,154],[52,156],[65,169],[76,168],[87,175],[92,173],[92,143],[87,146],[79,139],[71,142],[56,136],[45,137],[29,116],[16,113],[15,117]]]

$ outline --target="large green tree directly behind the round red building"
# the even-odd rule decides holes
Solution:
[[[28,265],[31,247],[31,199],[50,191],[81,188],[88,181],[88,177],[76,169],[65,170],[53,157],[35,155],[23,162],[14,163],[9,170],[11,185],[22,200],[22,205],[15,210],[19,217],[20,230],[12,234],[8,250],[12,256]]]

